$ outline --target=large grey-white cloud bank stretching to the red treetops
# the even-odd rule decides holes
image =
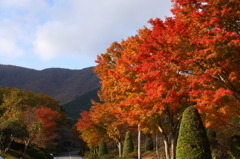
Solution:
[[[166,15],[159,0],[67,2],[55,1],[51,19],[37,28],[34,48],[44,59],[58,55],[96,56],[111,42],[142,28],[150,18]]]

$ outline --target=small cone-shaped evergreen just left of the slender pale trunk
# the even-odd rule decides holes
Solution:
[[[131,132],[128,131],[125,136],[125,141],[123,145],[123,156],[126,157],[129,153],[134,151],[134,145],[132,142]]]

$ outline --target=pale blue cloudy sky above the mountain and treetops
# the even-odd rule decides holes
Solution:
[[[171,0],[0,0],[0,64],[95,66],[114,41],[171,16]]]

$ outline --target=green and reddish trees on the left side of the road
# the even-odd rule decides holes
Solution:
[[[10,149],[13,141],[24,143],[23,156],[29,145],[53,148],[58,144],[58,132],[66,124],[60,103],[44,94],[0,88],[1,152]]]

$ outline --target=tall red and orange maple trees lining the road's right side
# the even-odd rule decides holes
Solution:
[[[139,159],[142,132],[160,134],[165,158],[175,159],[182,114],[191,106],[222,145],[239,135],[239,0],[172,0],[171,12],[97,57],[102,103],[92,101],[76,124],[91,149],[114,141],[122,156],[130,130],[138,132]]]

